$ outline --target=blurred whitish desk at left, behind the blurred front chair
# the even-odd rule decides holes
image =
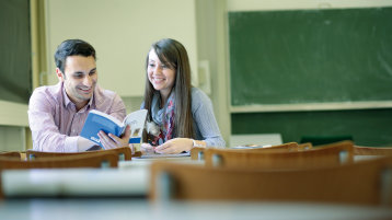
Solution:
[[[161,159],[168,160],[168,159]],[[10,197],[146,197],[150,164],[157,160],[120,161],[118,169],[35,169],[4,170],[2,189]],[[200,163],[191,158],[178,163]]]

